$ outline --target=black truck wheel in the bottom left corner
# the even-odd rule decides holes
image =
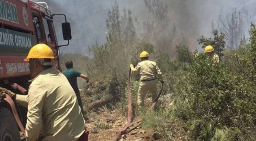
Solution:
[[[0,107],[0,141],[20,141],[20,134],[13,114]]]

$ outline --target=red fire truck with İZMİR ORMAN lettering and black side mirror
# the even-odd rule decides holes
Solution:
[[[45,2],[0,0],[0,87],[26,94],[30,71],[23,59],[37,43],[52,48],[56,58],[53,67],[60,70],[58,49],[65,45],[57,43],[53,24],[56,15],[65,17],[62,31],[68,45],[71,31],[64,14],[51,14]],[[11,99],[0,99],[0,141],[19,141],[19,131],[24,132],[25,124],[26,108]]]

